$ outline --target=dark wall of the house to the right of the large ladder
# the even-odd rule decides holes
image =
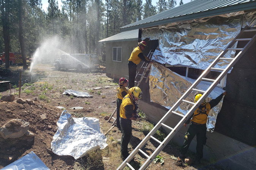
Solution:
[[[243,38],[253,37],[246,32]],[[237,48],[247,42],[240,41]],[[223,106],[215,130],[248,145],[256,145],[256,42],[234,65],[227,76]],[[238,53],[238,51],[237,51]]]

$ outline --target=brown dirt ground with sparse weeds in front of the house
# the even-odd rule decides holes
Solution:
[[[11,92],[18,98],[18,81],[20,66],[11,66],[10,71],[0,66],[0,80],[10,80],[12,84]],[[75,70],[57,71],[51,65],[36,66],[30,73],[22,72],[22,93],[23,99],[37,98],[34,104],[29,105],[18,104],[17,102],[0,102],[0,126],[11,119],[23,119],[30,123],[30,131],[35,133],[35,137],[23,136],[16,139],[0,138],[0,168],[5,167],[13,161],[21,158],[33,151],[51,170],[55,169],[116,169],[122,159],[120,158],[120,139],[122,133],[117,127],[114,127],[106,134],[108,146],[103,150],[90,151],[81,159],[75,160],[71,156],[58,156],[51,153],[52,136],[57,130],[57,121],[62,110],[57,106],[65,107],[73,117],[96,117],[100,120],[101,130],[105,133],[111,123],[104,120],[104,116],[110,115],[116,107],[116,88],[117,82],[106,77],[104,68],[91,70],[84,73],[76,73]],[[93,90],[100,87],[101,89]],[[80,98],[68,95],[62,95],[63,91],[71,89],[77,91],[88,92],[92,98]],[[2,87],[0,96],[9,94],[9,90]],[[71,107],[84,107],[82,110],[73,110]],[[42,114],[45,115],[42,116]],[[143,114],[142,114],[143,116]],[[153,128],[150,122],[142,119],[140,122],[133,122],[133,137],[128,148],[132,151],[140,141]],[[162,131],[156,133],[156,138],[163,139]],[[144,151],[148,154],[152,153],[157,147],[157,143],[149,141]],[[47,149],[48,148],[48,149]],[[180,155],[179,146],[173,142],[169,142],[168,146],[160,152],[160,158],[164,160],[164,164],[160,162],[150,164],[148,169],[222,169],[210,162],[202,161],[201,165],[189,166],[182,162],[178,156]],[[190,156],[191,153],[189,153]],[[11,161],[9,157],[13,157]],[[131,165],[138,169],[145,161],[142,155],[136,155]],[[128,168],[126,168],[128,169]]]

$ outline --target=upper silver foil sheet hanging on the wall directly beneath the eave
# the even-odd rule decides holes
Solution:
[[[242,25],[253,20],[255,12],[232,12],[202,19],[168,23],[142,29],[142,39],[159,41],[152,59],[172,66],[187,66],[205,70],[239,34]],[[235,48],[237,43],[232,48]],[[225,57],[235,56],[228,51]],[[222,60],[215,67],[226,68],[229,61]],[[229,71],[230,72],[230,71]]]

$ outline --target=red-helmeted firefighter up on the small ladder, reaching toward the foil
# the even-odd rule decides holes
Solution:
[[[137,65],[143,60],[147,63],[153,63],[147,57],[145,57],[142,51],[147,47],[145,41],[139,42],[138,46],[134,48],[131,53],[130,58],[128,59],[128,69],[129,69],[129,88],[134,87],[134,80],[136,77]]]

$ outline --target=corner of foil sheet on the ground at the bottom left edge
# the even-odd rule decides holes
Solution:
[[[32,151],[21,159],[2,168],[2,170],[50,170]]]

